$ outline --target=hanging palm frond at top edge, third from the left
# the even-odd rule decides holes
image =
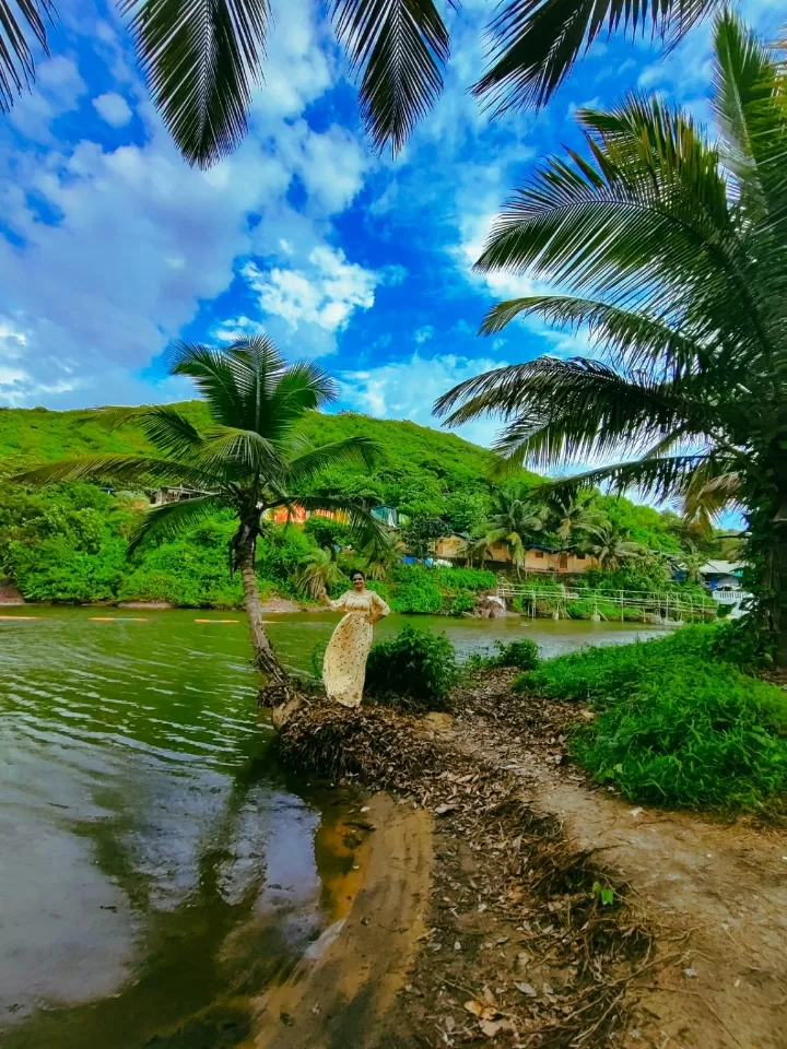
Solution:
[[[334,0],[332,15],[351,71],[362,73],[366,130],[396,154],[443,90],[448,31],[433,0]]]

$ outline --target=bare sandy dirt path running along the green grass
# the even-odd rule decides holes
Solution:
[[[502,709],[510,696],[500,687]],[[453,735],[519,776],[524,799],[557,816],[577,848],[594,850],[635,889],[670,960],[637,990],[632,1049],[785,1049],[787,833],[635,806],[591,788],[565,762],[555,711],[541,731],[539,708],[548,705],[516,702],[518,724],[466,716]]]

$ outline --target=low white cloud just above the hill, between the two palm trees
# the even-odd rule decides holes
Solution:
[[[342,373],[341,400],[356,412],[438,426],[432,415],[432,405],[438,397],[457,382],[505,364],[505,361],[470,360],[454,354],[422,357],[416,351],[409,361]],[[457,433],[467,440],[489,446],[498,431],[498,422],[479,420],[459,427]]]

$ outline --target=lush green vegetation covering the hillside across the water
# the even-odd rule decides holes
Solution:
[[[202,402],[187,401],[178,408],[198,427],[208,425]],[[306,416],[302,432],[315,443],[365,435],[380,445],[385,456],[375,468],[332,467],[314,479],[313,492],[398,508],[411,522],[399,538],[419,557],[425,556],[435,535],[455,530],[471,533],[478,542],[490,531],[491,518],[494,530],[496,512],[512,512],[508,504],[514,496],[506,496],[490,480],[490,452],[455,434],[411,422],[318,412]],[[35,491],[8,480],[33,463],[91,452],[148,451],[139,429],[125,426],[107,432],[85,412],[0,409],[0,578],[8,576],[31,601],[238,605],[242,587],[239,579],[231,577],[227,561],[234,527],[230,515],[218,512],[176,539],[129,557],[128,541],[148,505],[145,493],[109,494],[83,483]],[[526,490],[536,480],[535,474],[522,472],[515,484]],[[624,547],[634,545],[639,554],[630,563],[612,559],[603,570],[588,573],[585,581],[599,589],[671,586],[665,555],[681,553],[676,516],[600,495],[592,507],[618,541]],[[524,542],[528,537],[547,545],[561,542],[547,526],[538,533],[522,531]],[[588,537],[575,530],[571,542],[590,543]],[[341,592],[352,565],[367,567],[360,552],[348,549],[351,542],[336,522],[312,519],[305,529],[270,524],[257,553],[263,594],[314,598],[322,586]],[[401,549],[392,549],[387,562],[375,565],[377,578],[372,584],[396,611],[460,615],[473,609],[479,591],[496,582],[483,565],[426,569],[398,564],[400,555]],[[549,580],[542,578],[540,585],[548,587]],[[543,614],[551,614],[549,601],[542,603]],[[568,610],[578,617],[591,611],[590,605]]]

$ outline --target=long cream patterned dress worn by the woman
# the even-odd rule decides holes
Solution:
[[[390,609],[373,590],[348,590],[336,601],[329,601],[333,611],[344,609],[346,615],[328,641],[322,660],[322,681],[330,699],[345,707],[361,705],[366,658],[372,647],[372,621],[388,615]]]

